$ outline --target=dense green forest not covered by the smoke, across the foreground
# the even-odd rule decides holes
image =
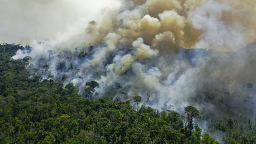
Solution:
[[[0,143],[219,143],[194,123],[200,111],[192,106],[183,116],[133,107],[139,96],[133,101],[85,98],[72,84],[30,78],[27,59],[11,60],[18,49],[25,48],[0,45]],[[88,82],[88,94],[95,87]],[[230,119],[212,126],[224,143],[255,143],[252,124],[248,121],[251,129],[244,130]]]

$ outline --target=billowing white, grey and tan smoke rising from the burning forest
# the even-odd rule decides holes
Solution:
[[[141,95],[154,108],[228,106],[237,110],[233,113],[254,114],[256,1],[115,4],[95,21],[79,21],[85,28],[70,25],[71,31],[34,40],[31,49],[19,50],[13,58],[29,56],[31,75],[71,82],[81,94],[85,83],[94,80],[99,95],[119,89],[127,95],[124,100]]]

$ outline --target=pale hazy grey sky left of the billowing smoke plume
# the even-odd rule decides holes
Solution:
[[[86,27],[118,0],[0,0],[0,43],[28,44],[50,40]]]

